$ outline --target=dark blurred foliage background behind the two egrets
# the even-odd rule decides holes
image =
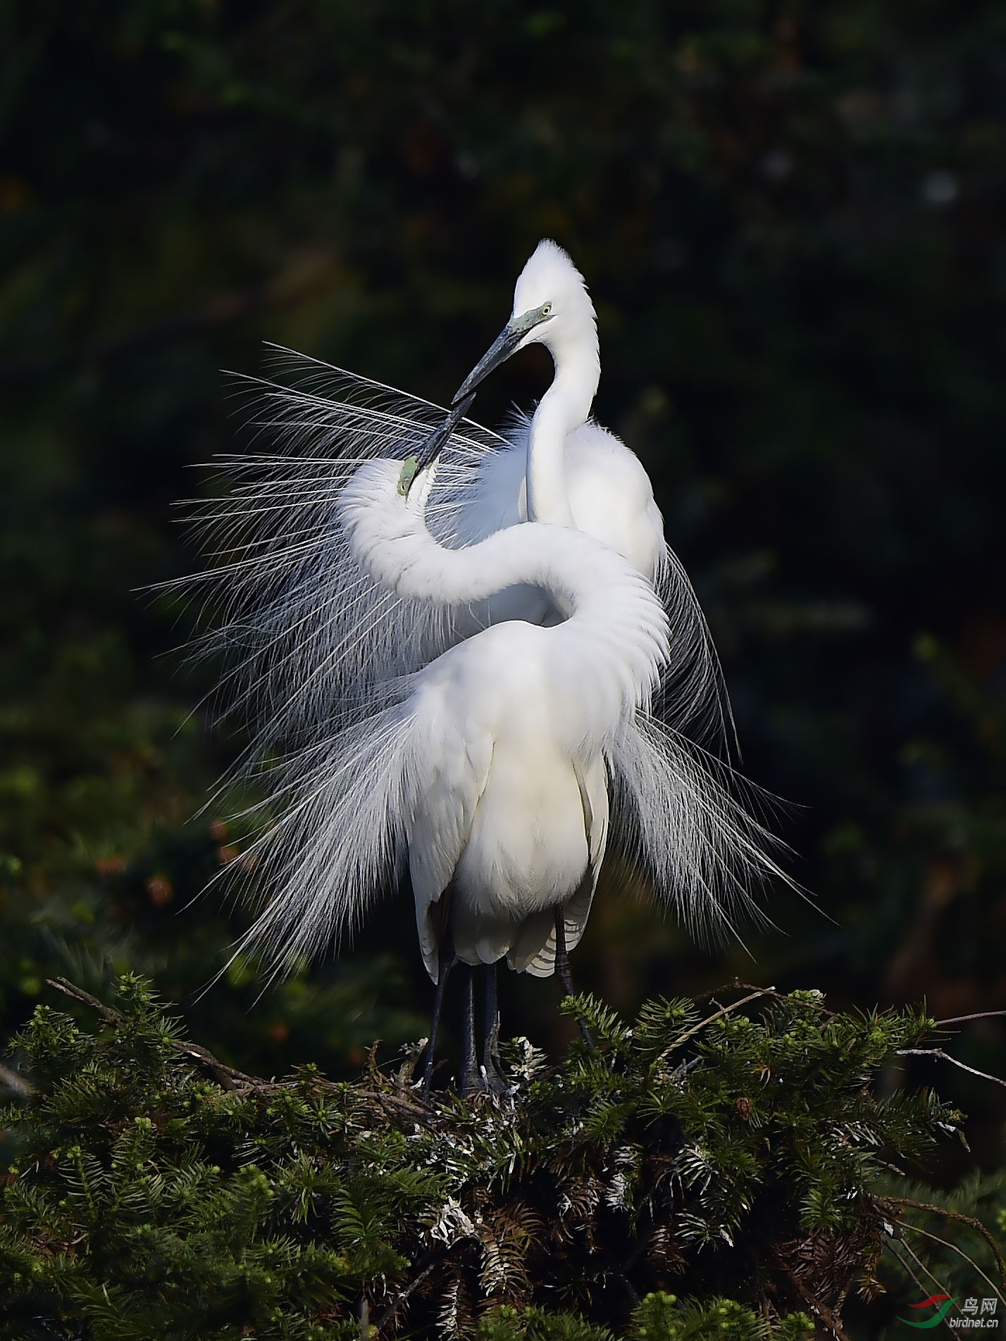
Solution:
[[[241,964],[199,996],[241,920],[192,900],[239,858],[189,817],[240,742],[134,589],[196,565],[170,503],[233,445],[219,367],[272,339],[443,398],[542,235],[820,902],[773,898],[752,964],[598,900],[581,982],[1006,1006],[1001,4],[7,0],[0,63],[7,1030],[46,975],[130,966],[256,1073],[417,1037],[405,904],[258,1004]],[[515,361],[483,417],[546,378]],[[547,984],[503,991],[558,1046]],[[987,1089],[950,1084],[997,1159]]]

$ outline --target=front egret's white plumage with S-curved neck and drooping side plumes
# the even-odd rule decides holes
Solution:
[[[280,970],[338,945],[408,866],[436,979],[428,912],[467,854],[479,874],[463,905],[487,921],[469,928],[465,912],[459,957],[507,955],[512,967],[547,975],[549,929],[526,925],[526,916],[578,890],[567,932],[570,943],[579,939],[609,810],[618,848],[692,929],[727,929],[747,878],[781,873],[762,852],[767,835],[708,758],[649,713],[671,637],[649,582],[593,536],[541,523],[451,550],[425,524],[432,472],[404,499],[401,467],[361,465],[335,510],[350,552],[376,582],[447,607],[530,582],[565,618],[484,629],[389,680],[381,705],[372,703],[361,720],[319,732],[271,764],[260,809],[274,818],[249,853],[254,885],[268,902],[249,943]],[[553,791],[571,834],[558,843],[539,818],[550,814]],[[581,888],[588,865],[589,888]],[[524,892],[507,911],[511,876]]]

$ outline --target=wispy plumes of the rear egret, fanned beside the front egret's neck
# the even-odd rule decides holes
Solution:
[[[215,460],[227,492],[182,504],[211,566],[169,583],[203,606],[192,653],[223,661],[216,701],[251,727],[249,758],[310,742],[334,717],[366,715],[389,676],[425,665],[492,618],[484,602],[445,607],[380,587],[349,554],[335,519],[361,463],[408,457],[444,412],[292,351],[275,359],[294,385],[240,378],[237,388],[268,448]],[[427,507],[443,544],[471,543],[465,507],[480,472],[508,441],[523,441],[527,426],[516,417],[504,439],[465,420],[445,444]],[[657,585],[673,630],[661,716],[715,748],[727,719],[719,661],[671,550]]]

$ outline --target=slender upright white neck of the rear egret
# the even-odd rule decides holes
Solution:
[[[547,345],[555,377],[531,420],[527,443],[527,519],[575,528],[566,489],[566,434],[586,420],[601,380],[597,333]]]

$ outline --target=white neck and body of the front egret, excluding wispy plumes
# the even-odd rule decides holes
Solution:
[[[339,507],[354,555],[384,586],[460,605],[527,582],[565,616],[554,628],[494,625],[412,680],[401,837],[427,968],[436,979],[432,912],[451,889],[461,961],[507,956],[550,974],[557,909],[570,948],[586,921],[608,833],[606,758],[657,684],[667,616],[621,555],[577,531],[530,524],[439,546],[423,522],[427,488],[405,503],[400,465],[361,467]]]

